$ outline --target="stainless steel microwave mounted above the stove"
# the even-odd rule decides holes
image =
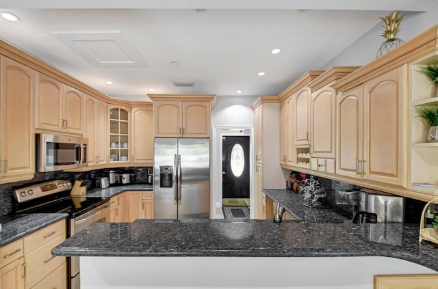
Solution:
[[[60,171],[88,166],[88,139],[36,134],[37,171]]]

